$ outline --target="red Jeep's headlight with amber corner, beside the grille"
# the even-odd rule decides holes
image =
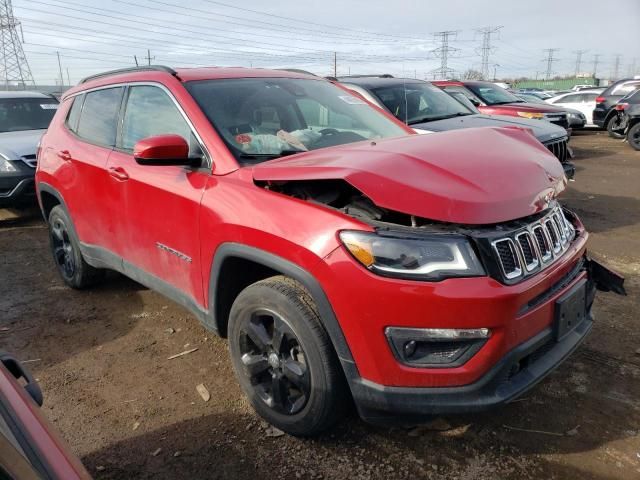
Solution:
[[[362,265],[379,275],[437,281],[484,275],[466,237],[344,231],[340,239]]]

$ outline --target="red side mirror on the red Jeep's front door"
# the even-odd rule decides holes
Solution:
[[[133,158],[140,165],[193,165],[189,144],[180,135],[167,134],[143,138],[133,147]]]

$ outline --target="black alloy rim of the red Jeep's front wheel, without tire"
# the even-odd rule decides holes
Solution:
[[[311,394],[311,377],[300,341],[277,313],[257,309],[240,329],[241,360],[257,396],[275,411],[300,412]]]

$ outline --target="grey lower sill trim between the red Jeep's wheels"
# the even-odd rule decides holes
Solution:
[[[193,313],[207,329],[218,333],[215,326],[212,325],[211,322],[207,322],[209,312],[202,308],[193,297],[187,295],[182,290],[146,270],[123,260],[122,257],[119,257],[106,248],[80,242],[80,251],[85,261],[92,267],[115,270],[145,287],[160,293]]]

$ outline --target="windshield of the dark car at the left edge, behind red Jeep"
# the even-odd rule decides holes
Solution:
[[[44,130],[58,108],[55,98],[0,99],[0,132]]]

